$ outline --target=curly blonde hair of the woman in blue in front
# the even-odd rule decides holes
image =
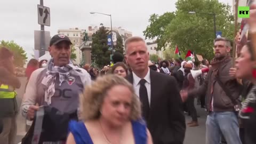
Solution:
[[[141,104],[135,94],[132,84],[125,78],[116,75],[98,77],[92,85],[86,86],[80,95],[81,117],[84,121],[98,119],[101,116],[100,109],[107,92],[116,85],[123,85],[132,92],[130,120],[141,119]]]

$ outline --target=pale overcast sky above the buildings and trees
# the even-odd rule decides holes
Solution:
[[[232,3],[232,0],[219,1]],[[44,0],[44,5],[50,7],[51,12],[51,27],[45,26],[45,30],[53,36],[58,29],[87,29],[90,25],[99,26],[100,23],[109,27],[109,17],[90,14],[94,11],[112,14],[113,27],[132,31],[133,36],[143,36],[142,31],[148,25],[150,14],[175,11],[175,2],[177,0]],[[34,53],[34,30],[40,30],[37,4],[39,0],[0,1],[0,40],[18,43],[27,52],[29,59]]]

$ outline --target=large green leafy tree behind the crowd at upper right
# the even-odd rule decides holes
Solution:
[[[191,50],[206,59],[213,58],[213,13],[216,15],[216,30],[222,31],[222,37],[233,39],[234,17],[229,5],[218,0],[178,0],[176,7],[175,17],[165,26],[164,31],[159,29],[158,32],[161,32],[162,39],[166,39],[165,43],[178,45],[181,53],[186,54]],[[189,14],[190,11],[197,13]]]

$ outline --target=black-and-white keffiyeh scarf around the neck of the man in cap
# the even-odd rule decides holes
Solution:
[[[71,70],[76,70],[79,73],[82,73],[82,71],[75,67],[71,61],[69,61],[66,66],[58,67],[54,66],[53,59],[50,60],[47,66],[46,76],[42,80],[42,84],[47,87],[44,94],[44,101],[47,102],[47,105],[51,104],[51,98],[55,93],[55,81],[57,75],[59,76],[61,86],[61,84],[70,76]]]

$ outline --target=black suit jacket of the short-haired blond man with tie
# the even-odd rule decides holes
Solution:
[[[126,78],[133,84],[132,74]],[[186,124],[177,82],[172,76],[150,70],[150,84],[151,100],[147,127],[154,144],[183,143]]]

